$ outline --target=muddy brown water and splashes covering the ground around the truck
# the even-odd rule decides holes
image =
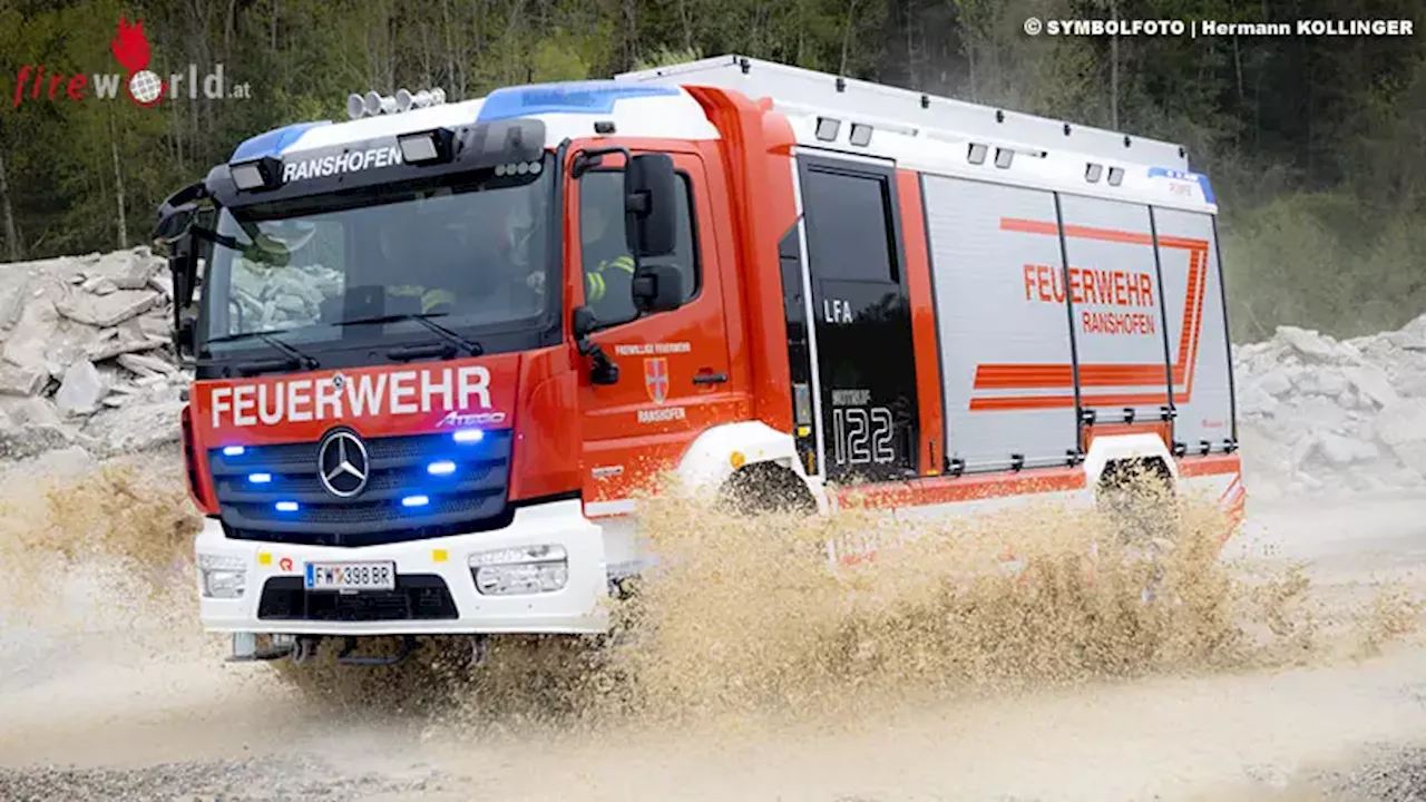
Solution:
[[[197,629],[181,482],[6,475],[0,799],[1426,796],[1426,498],[1252,505],[1222,554],[1185,499],[1147,558],[1044,505],[897,531],[679,497],[610,642],[294,674]],[[903,545],[827,569],[873,531]]]

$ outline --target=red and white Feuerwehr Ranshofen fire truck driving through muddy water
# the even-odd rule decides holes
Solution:
[[[736,56],[349,116],[158,213],[238,659],[600,632],[670,469],[961,515],[1151,465],[1242,515],[1176,144]]]

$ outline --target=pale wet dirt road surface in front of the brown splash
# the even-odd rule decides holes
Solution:
[[[1426,591],[1426,498],[1253,509],[1225,559],[1242,575],[1305,561],[1313,626],[1342,648],[1302,665],[908,692],[796,721],[583,731],[312,702],[270,666],[224,665],[224,644],[193,631],[185,575],[167,601],[116,609],[93,575],[11,567],[6,582],[50,601],[11,606],[0,631],[0,799],[1426,798],[1426,645],[1403,626],[1378,638],[1370,616],[1332,619],[1378,604],[1382,581]]]

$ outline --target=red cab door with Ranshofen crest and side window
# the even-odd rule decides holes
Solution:
[[[617,267],[600,271],[603,298],[586,295],[583,274],[600,261],[612,261],[607,241],[593,237],[599,213],[623,238],[623,157],[605,156],[603,164],[568,184],[572,307],[586,304],[595,310],[600,323],[590,340],[619,370],[616,382],[595,384],[590,358],[579,357],[583,497],[589,515],[625,511],[635,488],[672,468],[702,430],[727,420],[737,404],[719,253],[710,234],[699,235],[714,230],[704,164],[694,153],[670,156],[680,190],[679,235],[674,254],[659,261],[682,268],[684,304],[677,310],[640,314]]]

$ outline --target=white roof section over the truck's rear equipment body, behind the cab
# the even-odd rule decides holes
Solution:
[[[716,86],[767,98],[801,148],[897,167],[1095,197],[1216,211],[1175,143],[978,106],[743,56],[623,73],[636,86]]]

